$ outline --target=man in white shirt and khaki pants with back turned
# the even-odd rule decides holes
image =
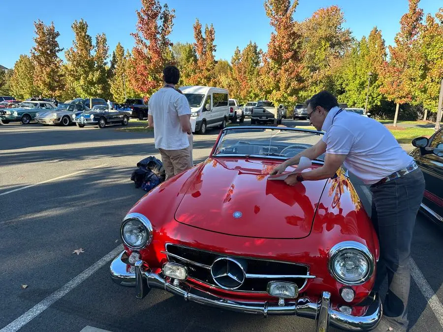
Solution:
[[[155,146],[160,151],[166,179],[190,168],[191,112],[188,99],[175,90],[179,79],[179,69],[166,66],[164,86],[148,102],[148,123],[154,128]]]

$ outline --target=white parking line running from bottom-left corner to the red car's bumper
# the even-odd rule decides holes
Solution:
[[[49,308],[53,303],[63,298],[63,296],[65,296],[67,293],[69,293],[71,290],[73,290],[75,287],[77,287],[83,281],[89,278],[92,274],[94,274],[94,272],[103,267],[111,259],[117,256],[122,250],[123,250],[123,244],[120,244],[114,250],[109,252],[106,256],[100,258],[97,262],[91,265],[88,269],[81,272],[79,275],[71,279],[71,281],[69,281],[68,283],[64,284],[62,287],[60,287],[58,290],[56,290],[46,299],[35,304],[31,309],[29,309],[19,318],[14,320],[12,323],[6,325],[3,329],[0,330],[0,332],[15,332],[24,327],[26,324],[31,322],[32,319],[34,319],[44,310]]]

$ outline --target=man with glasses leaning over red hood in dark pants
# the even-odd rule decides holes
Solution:
[[[386,275],[389,287],[383,317],[374,331],[407,331],[411,241],[424,193],[423,174],[385,126],[340,109],[337,99],[328,91],[321,91],[308,101],[308,119],[317,130],[325,131],[322,140],[275,167],[271,174],[284,172],[287,166],[297,164],[301,156],[315,159],[326,152],[322,167],[291,175],[285,182],[294,185],[298,181],[328,179],[344,163],[351,173],[370,185],[371,219],[380,241],[374,291],[379,291]]]

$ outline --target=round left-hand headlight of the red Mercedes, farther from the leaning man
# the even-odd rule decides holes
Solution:
[[[144,248],[152,241],[151,222],[143,214],[129,213],[123,219],[121,236],[128,247],[133,249]]]

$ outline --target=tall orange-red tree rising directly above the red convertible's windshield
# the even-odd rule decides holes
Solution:
[[[261,98],[294,103],[302,88],[301,35],[292,16],[298,0],[267,0],[266,15],[274,32],[263,54],[259,91]]]

